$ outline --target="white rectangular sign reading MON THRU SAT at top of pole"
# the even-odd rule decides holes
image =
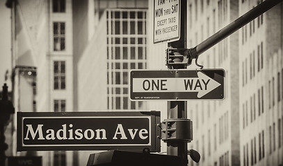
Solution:
[[[154,1],[154,44],[180,38],[180,0]]]

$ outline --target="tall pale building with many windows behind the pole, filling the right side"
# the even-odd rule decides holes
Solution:
[[[261,2],[188,1],[187,48]],[[152,6],[149,2],[149,18]],[[166,48],[167,44],[149,45],[148,68],[167,68]],[[282,4],[202,53],[198,62],[225,70],[225,100],[188,101],[188,118],[193,121],[188,148],[202,156],[200,163],[189,165],[282,165]],[[152,108],[166,115],[165,102],[149,102]]]

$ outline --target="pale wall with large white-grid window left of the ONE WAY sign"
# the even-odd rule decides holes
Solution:
[[[146,102],[129,100],[129,71],[147,67],[148,2],[94,1],[93,5],[94,10],[89,10],[95,13],[95,21],[88,21],[93,24],[93,32],[88,30],[93,35],[81,53],[74,55],[79,56],[74,62],[77,68],[74,71],[77,72],[77,111],[147,109]],[[79,45],[75,47],[79,48]],[[93,153],[79,151],[76,155],[79,161],[87,161]],[[85,165],[83,162],[78,164]]]

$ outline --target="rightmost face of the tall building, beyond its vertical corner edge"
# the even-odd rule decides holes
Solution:
[[[243,15],[262,1],[239,1]],[[239,30],[241,165],[283,165],[282,3]]]

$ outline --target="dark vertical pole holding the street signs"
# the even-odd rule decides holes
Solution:
[[[180,28],[180,39],[176,42],[169,42],[168,47],[172,46],[173,48],[186,48],[186,13],[187,13],[187,0],[180,0],[181,6],[181,15],[179,21],[181,23]],[[182,59],[180,59],[180,62]],[[186,68],[186,66],[172,66],[168,65],[169,69],[172,68]],[[167,102],[167,118],[168,119],[177,119],[177,118],[186,118],[186,102],[185,101],[168,101]],[[181,156],[187,164],[188,155],[187,155],[187,142],[186,141],[168,141],[167,142],[167,154],[172,156]]]

